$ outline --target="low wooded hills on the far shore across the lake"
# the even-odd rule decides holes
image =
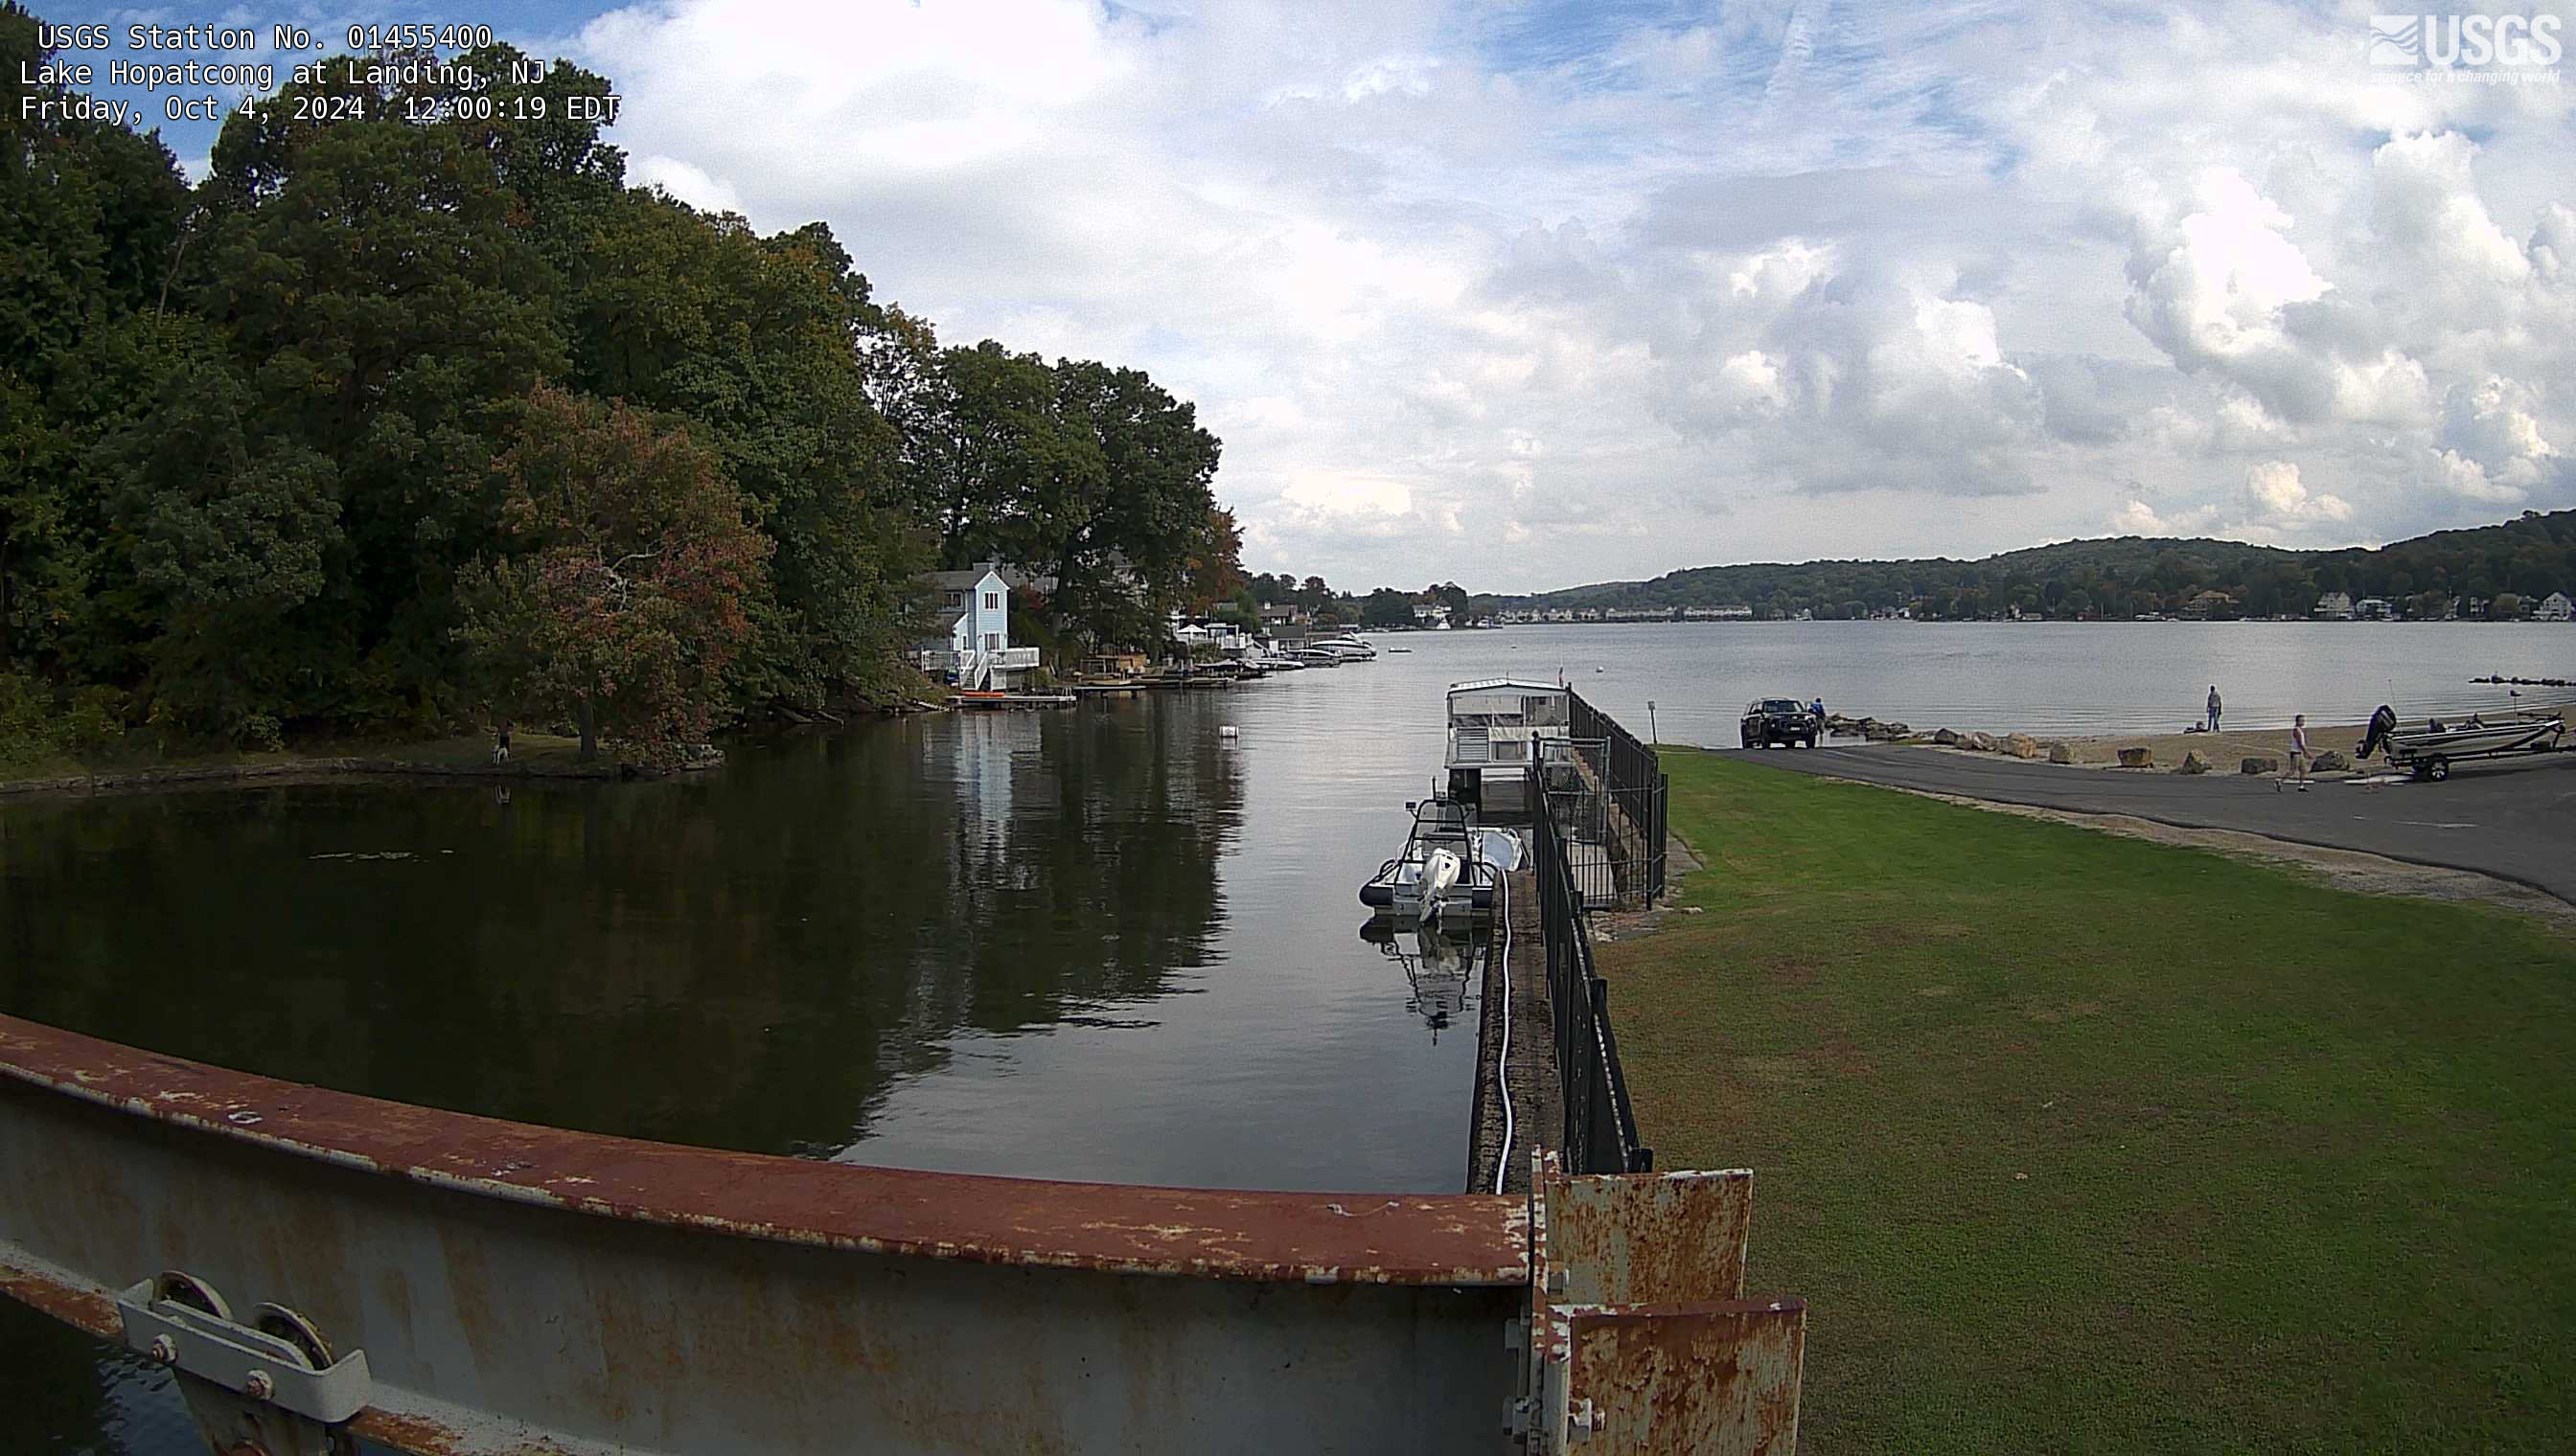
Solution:
[[[2226,600],[2200,603],[2202,593]],[[2519,616],[2550,593],[2576,595],[2576,510],[2437,531],[2380,549],[2285,551],[2241,541],[2117,536],[2004,551],[1978,562],[1801,562],[1695,567],[1649,582],[1476,598],[1481,608],[1749,606],[1780,618],[1857,618],[1909,608],[1924,618],[2308,616],[2326,593],[2385,598],[2398,616]]]

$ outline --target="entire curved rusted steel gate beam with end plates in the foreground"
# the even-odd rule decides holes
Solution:
[[[1538,1185],[848,1167],[0,1018],[0,1291],[173,1363],[227,1453],[1790,1451],[1749,1175]]]

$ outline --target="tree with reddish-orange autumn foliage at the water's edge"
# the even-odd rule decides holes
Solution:
[[[464,575],[459,639],[502,711],[670,763],[703,742],[752,634],[765,536],[690,428],[544,389],[500,459],[510,554]]]

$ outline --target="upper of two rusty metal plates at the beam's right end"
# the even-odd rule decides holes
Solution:
[[[1546,1183],[1548,1268],[1569,1270],[1556,1304],[1685,1304],[1744,1296],[1754,1175],[1667,1173]]]

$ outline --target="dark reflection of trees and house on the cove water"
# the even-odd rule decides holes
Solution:
[[[819,1152],[956,1031],[1208,966],[1239,827],[1213,727],[1159,711],[866,724],[507,801],[23,804],[0,817],[0,1010],[428,1106]]]

